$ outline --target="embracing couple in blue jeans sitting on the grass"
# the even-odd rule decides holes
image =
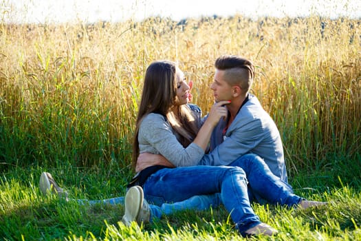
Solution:
[[[171,61],[149,65],[133,145],[137,174],[125,198],[89,202],[124,202],[127,225],[223,204],[243,236],[278,232],[261,222],[251,202],[303,209],[325,205],[295,195],[287,184],[281,136],[249,93],[254,65],[226,55],[215,68],[210,86],[215,104],[201,118],[200,109],[188,103],[190,86],[179,67]],[[65,193],[49,173],[41,175],[40,188]]]

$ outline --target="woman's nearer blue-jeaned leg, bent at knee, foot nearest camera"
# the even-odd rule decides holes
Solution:
[[[221,193],[223,205],[242,234],[261,224],[248,200],[245,173],[238,167],[161,169],[148,178],[143,189],[146,200],[155,205],[179,202],[197,195]]]

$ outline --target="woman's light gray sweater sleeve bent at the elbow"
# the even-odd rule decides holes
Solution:
[[[160,114],[151,113],[143,119],[138,140],[140,153],[161,154],[176,167],[196,165],[204,155],[204,150],[195,143],[184,148],[171,125]]]

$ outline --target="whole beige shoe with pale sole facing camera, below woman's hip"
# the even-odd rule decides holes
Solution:
[[[131,222],[135,221],[138,224],[142,222],[149,222],[151,218],[151,211],[149,204],[144,199],[143,189],[140,186],[134,186],[129,188],[125,195],[125,212],[122,218],[122,222],[130,226]]]

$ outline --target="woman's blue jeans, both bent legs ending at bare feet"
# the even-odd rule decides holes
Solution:
[[[231,165],[234,167],[161,169],[145,182],[144,196],[161,209],[168,205],[168,210],[173,211],[208,209],[221,201],[242,234],[261,223],[250,207],[251,200],[287,206],[300,202],[301,198],[294,195],[287,183],[274,176],[259,156],[246,154]],[[159,208],[151,211],[154,217],[162,215]]]

